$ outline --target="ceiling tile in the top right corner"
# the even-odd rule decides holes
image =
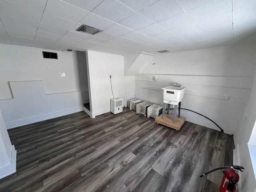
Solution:
[[[233,22],[256,20],[255,0],[233,0]]]

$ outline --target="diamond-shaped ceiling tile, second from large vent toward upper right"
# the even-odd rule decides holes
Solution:
[[[136,12],[116,0],[104,0],[92,13],[119,22]]]

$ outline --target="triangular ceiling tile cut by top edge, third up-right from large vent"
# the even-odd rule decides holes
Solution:
[[[139,1],[131,1],[131,0],[118,0],[122,4],[130,7],[132,10],[139,12],[140,10],[147,8],[148,6],[158,2],[159,0],[139,0]]]

